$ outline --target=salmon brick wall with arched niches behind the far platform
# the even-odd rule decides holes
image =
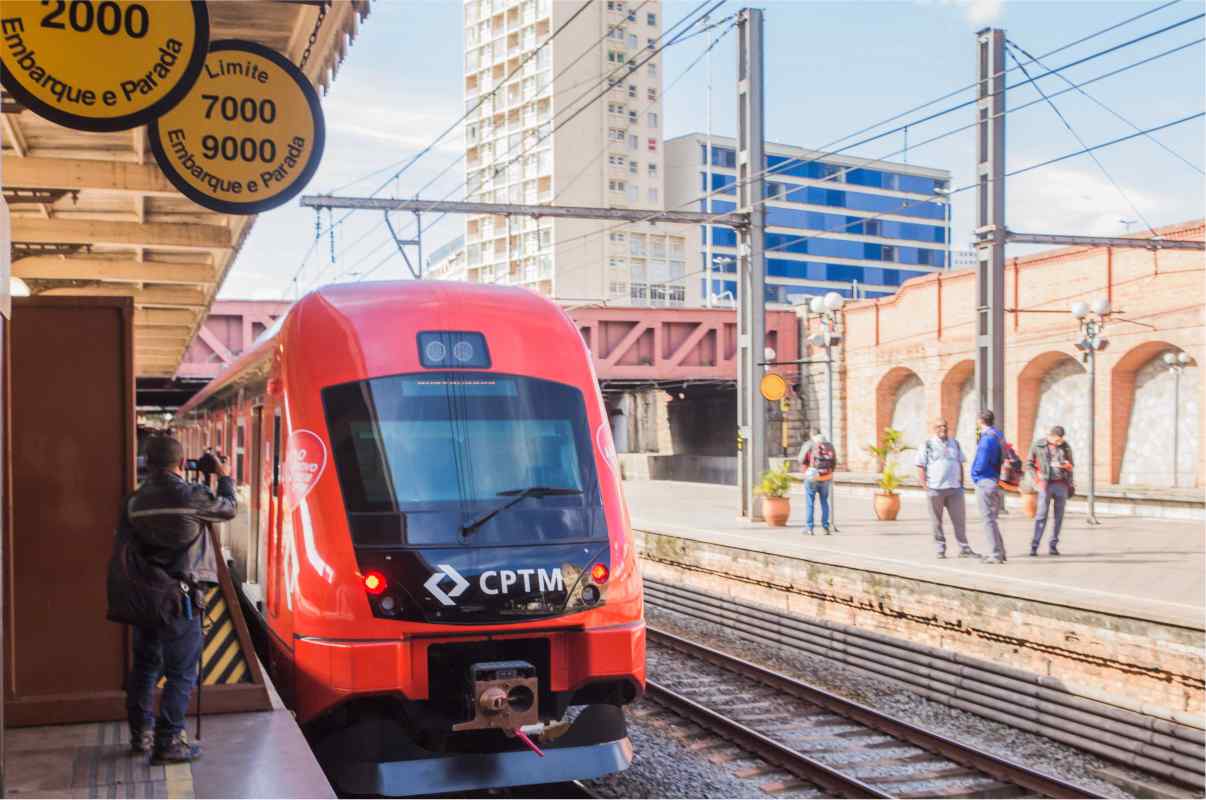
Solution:
[[[1195,221],[1166,228],[1161,235],[1201,240],[1204,230],[1202,222]],[[1194,251],[1065,247],[1009,259],[1006,305],[1017,310],[1006,315],[1006,408],[994,409],[1003,420],[1006,438],[1019,449],[1028,448],[1043,426],[1058,422],[1067,428],[1079,466],[1087,466],[1088,389],[1073,374],[1072,366],[1079,366],[1073,346],[1078,327],[1064,311],[1076,300],[1106,297],[1124,314],[1107,322],[1110,348],[1097,357],[1097,481],[1138,481],[1135,469],[1123,471],[1132,431],[1159,433],[1161,442],[1169,442],[1161,446],[1171,448],[1171,421],[1160,421],[1171,415],[1171,401],[1170,410],[1159,413],[1159,384],[1147,387],[1154,370],[1142,375],[1141,370],[1170,350],[1187,351],[1195,366],[1206,356],[1202,271],[1202,253]],[[847,468],[874,468],[863,445],[876,440],[892,420],[896,390],[906,373],[915,374],[925,387],[924,416],[942,414],[948,421],[958,420],[956,436],[965,446],[971,444],[966,420],[976,401],[967,397],[965,387],[974,358],[974,285],[971,270],[926,276],[906,282],[891,298],[862,300],[843,310],[839,379],[849,425],[837,450],[839,459],[849,459]],[[820,358],[822,354],[809,349],[803,357]],[[1072,366],[1060,367],[1069,363]],[[814,373],[808,375],[816,396],[824,383]],[[1187,374],[1182,389],[1181,459],[1187,465],[1182,485],[1189,485],[1188,475],[1193,474],[1194,485],[1201,486],[1206,454],[1198,443],[1206,427],[1206,385]],[[1136,404],[1142,420],[1132,426]],[[1143,410],[1147,408],[1151,414]],[[1194,471],[1188,468],[1190,459]],[[1171,478],[1166,480],[1171,483]]]

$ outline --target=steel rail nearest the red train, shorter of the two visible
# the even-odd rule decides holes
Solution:
[[[831,766],[821,764],[803,753],[780,744],[773,738],[757,732],[753,728],[732,720],[704,705],[678,694],[666,687],[645,681],[645,699],[657,705],[665,706],[675,714],[690,719],[704,729],[718,734],[743,751],[757,755],[760,759],[794,775],[801,781],[815,784],[833,796],[842,798],[890,798],[879,789],[853,778]]]

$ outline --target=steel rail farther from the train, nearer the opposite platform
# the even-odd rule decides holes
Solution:
[[[646,627],[649,640],[665,644],[686,655],[707,661],[724,670],[753,678],[759,683],[774,688],[797,700],[819,706],[826,711],[865,725],[872,730],[891,736],[926,752],[941,755],[955,764],[983,772],[997,781],[1012,783],[1047,798],[1100,798],[1083,787],[1078,787],[1053,776],[1031,770],[1008,759],[956,742],[912,723],[897,719],[853,700],[841,697],[808,685],[780,672],[751,664],[744,659],[722,653],[680,636],[654,627]],[[880,795],[883,796],[883,795]]]

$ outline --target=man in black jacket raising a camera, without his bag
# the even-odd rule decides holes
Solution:
[[[170,625],[134,629],[134,666],[127,683],[130,747],[152,751],[152,764],[193,761],[199,744],[185,735],[185,712],[197,683],[203,646],[201,618],[209,585],[218,582],[210,522],[235,515],[234,481],[219,459],[207,459],[218,474],[215,497],[207,487],[185,480],[185,450],[180,442],[157,436],[147,442],[150,474],[125,502],[121,524],[148,561],[181,582],[181,613]],[[166,678],[154,718],[154,687]]]

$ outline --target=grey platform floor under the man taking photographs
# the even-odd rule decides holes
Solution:
[[[293,714],[273,691],[273,710],[206,714],[204,754],[193,764],[151,766],[130,753],[124,722],[10,728],[10,798],[334,798]],[[204,697],[203,697],[204,701]],[[197,731],[188,718],[188,735]]]

